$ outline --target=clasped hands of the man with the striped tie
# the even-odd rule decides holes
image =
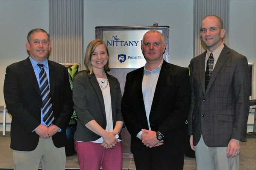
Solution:
[[[50,138],[58,131],[59,127],[54,124],[51,124],[49,127],[40,124],[39,126],[37,126],[37,128],[35,128],[35,132],[40,136],[40,138]]]

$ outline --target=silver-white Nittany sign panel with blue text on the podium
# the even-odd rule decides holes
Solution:
[[[146,63],[140,45],[148,30],[104,30],[110,68],[140,68]],[[162,30],[159,30],[162,32]]]

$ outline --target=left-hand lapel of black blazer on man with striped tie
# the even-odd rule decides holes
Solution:
[[[23,66],[24,66],[24,72],[26,73],[27,78],[29,79],[30,83],[35,88],[37,93],[41,96],[41,92],[37,82],[37,77],[35,76],[35,71],[34,71],[34,68],[32,67],[29,57],[23,62]]]

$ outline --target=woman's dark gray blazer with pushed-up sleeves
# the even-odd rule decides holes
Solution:
[[[110,86],[113,127],[115,127],[116,121],[123,121],[121,114],[122,94],[117,78],[107,73],[106,75]],[[73,102],[78,116],[74,139],[85,142],[99,139],[99,135],[84,126],[91,120],[97,121],[103,129],[107,126],[104,99],[94,73],[88,74],[87,71],[80,71],[76,75]]]

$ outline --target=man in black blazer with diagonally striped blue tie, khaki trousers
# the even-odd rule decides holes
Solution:
[[[39,162],[45,170],[63,170],[66,165],[64,146],[66,127],[73,113],[72,91],[67,69],[47,59],[49,38],[43,29],[31,30],[26,43],[30,56],[6,68],[4,97],[12,115],[15,170],[37,170]],[[37,64],[43,64],[42,68]],[[46,76],[40,76],[41,71]]]

